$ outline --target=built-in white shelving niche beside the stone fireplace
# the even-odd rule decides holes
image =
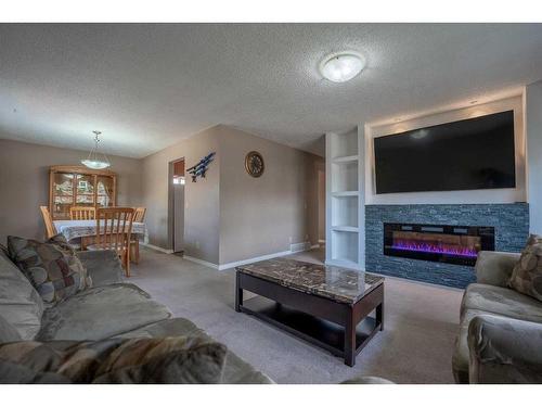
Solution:
[[[326,264],[364,267],[364,137],[330,132],[326,148]]]

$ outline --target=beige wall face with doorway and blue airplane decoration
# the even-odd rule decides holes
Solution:
[[[218,150],[218,127],[182,140],[142,160],[143,204],[150,243],[171,249],[168,241],[168,170],[179,158],[186,168]],[[206,178],[192,182],[186,174],[184,186],[184,253],[212,264],[219,262],[219,179],[220,154],[209,165]]]

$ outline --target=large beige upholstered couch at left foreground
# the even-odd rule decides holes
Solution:
[[[0,249],[0,343],[18,341],[100,341],[109,338],[208,338],[192,321],[171,311],[139,287],[122,282],[115,252],[81,252],[93,287],[46,308],[23,272]],[[209,339],[210,341],[210,339]],[[228,351],[222,383],[272,383]],[[0,377],[0,382],[13,382]],[[15,380],[16,382],[16,380]]]

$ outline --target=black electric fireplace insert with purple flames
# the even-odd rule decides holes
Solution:
[[[384,224],[388,256],[474,266],[482,250],[495,250],[493,227]]]

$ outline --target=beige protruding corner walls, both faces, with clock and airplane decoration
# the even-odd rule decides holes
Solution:
[[[245,155],[259,151],[261,178],[245,170]],[[143,204],[150,243],[168,241],[168,165],[186,168],[217,152],[207,177],[184,187],[184,252],[215,265],[289,250],[292,242],[318,242],[318,168],[323,158],[259,137],[216,126],[143,158]]]

